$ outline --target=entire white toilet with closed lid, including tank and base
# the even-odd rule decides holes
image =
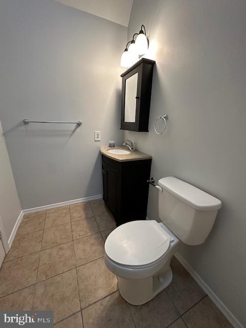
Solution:
[[[118,277],[122,298],[150,301],[172,281],[170,261],[180,242],[199,245],[208,237],[221,201],[175,177],[158,181],[159,219],[127,222],[105,242],[105,264]]]

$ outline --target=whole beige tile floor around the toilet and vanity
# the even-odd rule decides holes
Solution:
[[[230,328],[189,273],[141,306],[126,303],[104,265],[115,228],[103,201],[25,215],[0,270],[0,310],[53,310],[56,328]]]

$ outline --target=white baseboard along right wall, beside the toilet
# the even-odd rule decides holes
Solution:
[[[234,328],[243,328],[243,325],[237,320],[237,318],[231,313],[226,305],[215,295],[212,289],[207,285],[204,280],[195,272],[195,270],[190,266],[190,264],[185,260],[180,253],[176,253],[175,257],[177,260],[186,268],[194,280],[198,283],[200,288],[209,296],[209,298],[214,302],[217,308],[223,313],[227,320],[233,325]]]

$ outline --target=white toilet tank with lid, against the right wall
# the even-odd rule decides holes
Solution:
[[[198,245],[208,237],[221,201],[175,177],[158,181],[159,218],[184,243]]]

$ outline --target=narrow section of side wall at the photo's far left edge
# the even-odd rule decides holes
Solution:
[[[22,211],[15,187],[12,168],[5,144],[2,125],[0,122],[0,216],[6,238],[9,239],[14,224]]]

